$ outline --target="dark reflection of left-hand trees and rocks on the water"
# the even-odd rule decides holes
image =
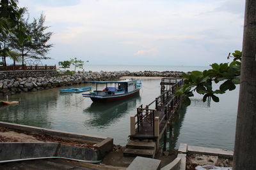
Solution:
[[[20,99],[20,103],[1,107],[1,121],[51,128],[51,122],[49,122],[48,114],[45,112],[56,107],[58,95],[55,92],[37,92],[36,95],[33,92],[22,93],[17,96],[10,96],[9,99],[10,101]]]

